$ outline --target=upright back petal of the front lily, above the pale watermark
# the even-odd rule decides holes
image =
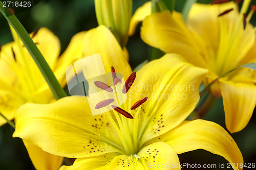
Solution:
[[[105,26],[99,26],[88,31],[83,43],[83,57],[99,53],[105,72],[111,72],[111,66],[114,66],[116,72],[121,73],[125,80],[132,73],[132,69],[125,59],[126,54],[115,36]]]

